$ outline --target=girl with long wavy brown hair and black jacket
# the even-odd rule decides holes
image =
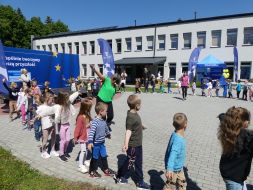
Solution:
[[[253,153],[253,131],[247,129],[250,112],[231,107],[220,119],[218,139],[221,143],[220,173],[227,190],[246,190]]]

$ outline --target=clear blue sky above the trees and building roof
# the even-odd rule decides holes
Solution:
[[[253,0],[0,0],[21,8],[27,19],[60,19],[72,31],[253,13]]]

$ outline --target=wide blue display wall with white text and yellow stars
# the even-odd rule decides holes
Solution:
[[[78,55],[4,46],[3,50],[9,82],[20,82],[22,68],[28,71],[31,79],[37,80],[39,86],[49,81],[51,88],[65,88],[70,78],[79,77]]]

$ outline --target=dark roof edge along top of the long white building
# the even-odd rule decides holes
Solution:
[[[146,24],[146,25],[138,25],[138,26],[127,26],[127,27],[121,27],[121,28],[117,26],[110,26],[110,27],[104,27],[104,28],[94,28],[94,29],[87,29],[87,30],[80,30],[80,31],[73,31],[73,32],[62,32],[62,33],[50,34],[48,36],[34,37],[33,40],[76,36],[76,35],[82,35],[82,34],[104,33],[104,32],[121,31],[121,30],[134,30],[134,29],[159,27],[159,26],[171,26],[171,25],[180,25],[180,24],[207,22],[207,21],[214,21],[214,20],[224,20],[224,19],[243,18],[243,17],[253,17],[253,13],[242,13],[242,14],[234,14],[234,15],[197,18],[197,19],[190,19],[190,20],[178,19],[177,21],[174,21],[174,22],[163,22],[163,23]]]

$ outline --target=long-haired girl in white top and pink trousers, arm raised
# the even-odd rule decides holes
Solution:
[[[75,108],[72,103],[79,96],[79,92],[69,96],[68,92],[59,92],[57,103],[55,105],[55,121],[60,123],[60,159],[67,161],[70,157],[66,152],[70,141],[70,116],[75,114]]]

